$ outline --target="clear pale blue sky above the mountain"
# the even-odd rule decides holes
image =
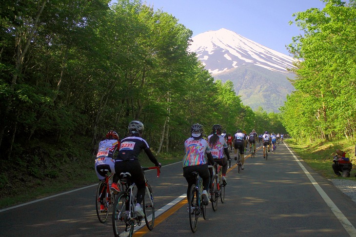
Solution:
[[[302,34],[293,13],[316,7],[323,9],[322,0],[142,0],[155,10],[160,9],[178,19],[193,31],[193,37],[225,28],[237,34],[290,55],[285,45]]]

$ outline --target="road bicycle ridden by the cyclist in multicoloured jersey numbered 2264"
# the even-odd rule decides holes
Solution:
[[[207,205],[203,204],[203,179],[195,171],[192,172],[192,176],[195,177],[195,184],[192,185],[189,191],[188,210],[190,229],[195,233],[197,231],[198,218],[203,215],[204,220],[206,219]]]

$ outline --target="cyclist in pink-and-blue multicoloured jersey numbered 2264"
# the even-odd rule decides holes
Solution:
[[[183,157],[183,177],[188,182],[187,198],[189,198],[189,191],[192,185],[195,184],[195,178],[192,172],[198,172],[203,179],[203,204],[209,204],[208,188],[210,183],[210,173],[205,154],[211,164],[214,164],[214,158],[211,154],[209,143],[202,138],[204,128],[201,124],[196,123],[191,127],[192,136],[185,140],[184,148],[185,155]],[[188,199],[189,201],[189,199]]]

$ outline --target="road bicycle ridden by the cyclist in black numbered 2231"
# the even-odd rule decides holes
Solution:
[[[157,169],[157,177],[159,177],[159,167],[141,167],[144,175],[144,171]],[[135,183],[132,182],[131,174],[129,172],[120,174],[120,183],[122,189],[119,195],[115,198],[113,206],[113,230],[116,237],[129,236],[134,233],[135,226],[140,226],[142,218],[145,219],[146,226],[149,230],[153,229],[155,224],[155,201],[153,192],[148,180],[144,175],[146,183],[145,197],[143,199],[143,213],[144,217],[138,217],[135,212],[136,197],[134,196]]]

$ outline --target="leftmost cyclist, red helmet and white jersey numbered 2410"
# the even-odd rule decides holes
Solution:
[[[118,149],[119,135],[110,130],[107,132],[105,138],[103,138],[99,143],[99,149],[97,153],[97,158],[95,159],[95,171],[99,180],[105,179],[104,170],[109,170],[110,173],[115,174],[115,159],[114,153]],[[105,211],[105,206],[103,203],[103,198],[106,195],[106,189],[103,190],[102,197],[100,197],[100,211]]]

